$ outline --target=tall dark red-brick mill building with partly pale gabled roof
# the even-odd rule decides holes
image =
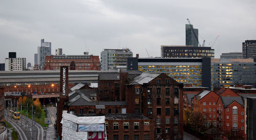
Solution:
[[[183,138],[183,84],[166,74],[143,73],[126,87],[127,113],[153,120],[155,139]]]

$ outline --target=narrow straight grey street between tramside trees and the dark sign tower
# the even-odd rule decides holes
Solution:
[[[56,137],[56,129],[54,128],[54,124],[57,119],[57,108],[56,107],[47,107],[47,118],[49,120],[49,126],[46,130],[46,139],[57,139]]]

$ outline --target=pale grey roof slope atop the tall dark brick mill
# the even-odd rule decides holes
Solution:
[[[135,77],[130,85],[142,85],[143,83],[148,83],[150,81],[152,81],[153,79],[155,79],[157,76],[159,76],[160,74],[153,74],[153,73],[142,73],[141,75]]]

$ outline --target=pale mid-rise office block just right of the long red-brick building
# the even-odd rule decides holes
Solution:
[[[100,55],[100,69],[116,71],[118,68],[126,68],[127,57],[133,57],[133,52],[129,49],[104,49]]]

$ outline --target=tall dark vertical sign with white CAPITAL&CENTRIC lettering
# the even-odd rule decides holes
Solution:
[[[59,80],[59,91],[60,98],[68,97],[69,90],[69,67],[68,66],[60,66],[60,80]]]

